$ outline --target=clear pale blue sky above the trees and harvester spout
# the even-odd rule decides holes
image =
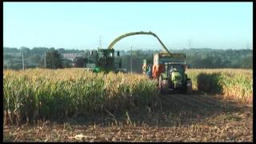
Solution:
[[[121,34],[152,31],[168,49],[252,48],[252,2],[4,2],[3,46],[95,49]],[[135,35],[114,48],[161,49]]]

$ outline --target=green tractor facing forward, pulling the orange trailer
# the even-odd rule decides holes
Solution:
[[[166,62],[165,70],[159,76],[159,89],[162,94],[167,94],[170,90],[190,93],[192,91],[191,79],[185,73],[188,65],[179,62]]]

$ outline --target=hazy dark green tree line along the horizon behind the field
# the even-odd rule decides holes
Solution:
[[[130,70],[130,50],[119,50],[122,58],[122,68]],[[154,54],[160,50],[133,50],[133,71],[142,73],[143,59],[153,63]],[[252,50],[215,50],[215,49],[183,49],[170,50],[172,53],[186,54],[186,63],[190,68],[243,68],[253,69]],[[22,55],[26,68],[45,67],[50,69],[72,67],[69,59],[63,58],[67,53],[90,53],[90,50],[66,50],[54,47],[3,48],[3,68],[22,69]]]

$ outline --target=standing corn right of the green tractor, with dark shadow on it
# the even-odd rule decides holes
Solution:
[[[243,69],[187,70],[194,90],[222,94],[238,102],[253,102],[253,71]]]

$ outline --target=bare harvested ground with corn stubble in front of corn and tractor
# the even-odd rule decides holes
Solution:
[[[252,142],[253,108],[221,95],[159,94],[157,108],[4,126],[4,142]]]

